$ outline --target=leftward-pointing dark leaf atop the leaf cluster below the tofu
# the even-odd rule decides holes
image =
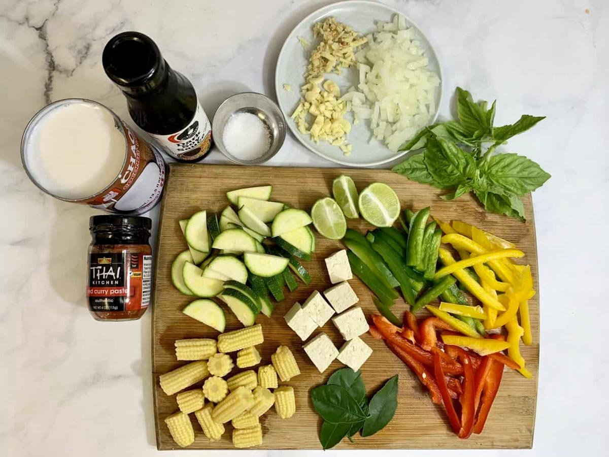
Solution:
[[[313,408],[331,423],[356,423],[366,419],[359,403],[341,386],[319,386],[311,391]]]

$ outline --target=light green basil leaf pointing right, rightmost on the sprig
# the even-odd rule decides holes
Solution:
[[[537,163],[518,154],[493,155],[481,171],[490,183],[516,195],[532,192],[550,179]]]

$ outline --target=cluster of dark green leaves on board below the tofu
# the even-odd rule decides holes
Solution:
[[[311,400],[323,419],[319,441],[324,449],[329,449],[345,436],[353,441],[359,430],[362,436],[370,436],[389,423],[398,406],[398,375],[376,392],[368,406],[361,372],[336,370],[326,385],[311,390]]]

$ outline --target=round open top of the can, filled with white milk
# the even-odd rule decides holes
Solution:
[[[88,102],[54,108],[34,127],[27,168],[49,193],[83,199],[104,190],[122,170],[125,138],[108,110]]]

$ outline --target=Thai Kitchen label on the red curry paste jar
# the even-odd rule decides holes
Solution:
[[[152,289],[152,255],[135,252],[92,253],[86,289],[91,311],[146,308]]]

